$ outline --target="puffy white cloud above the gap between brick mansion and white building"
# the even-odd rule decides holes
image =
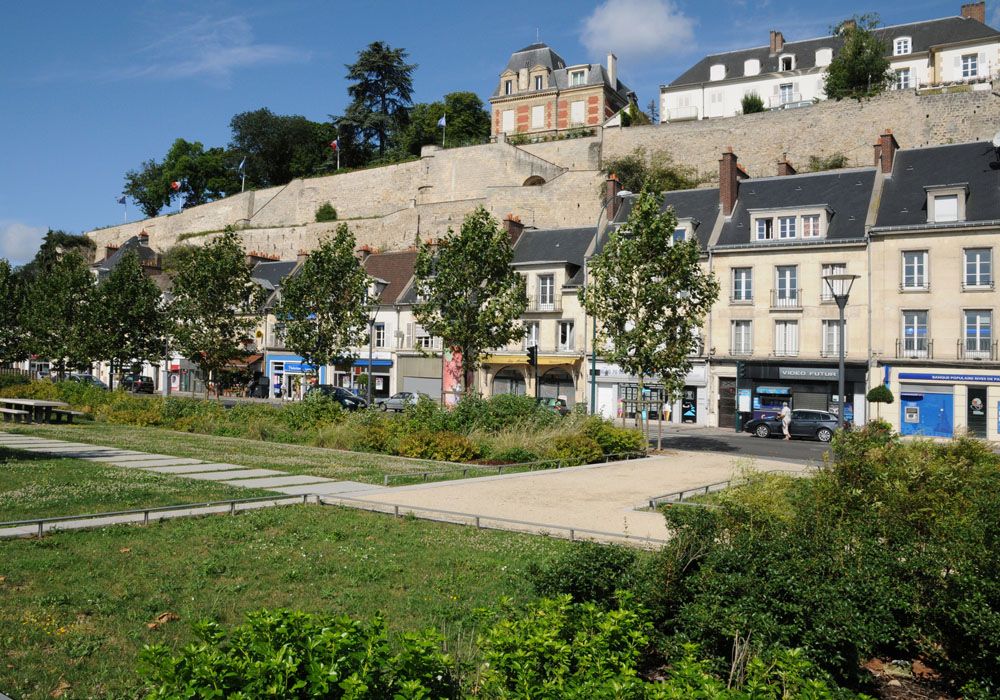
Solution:
[[[593,55],[626,60],[688,53],[694,20],[672,0],[604,0],[583,22],[580,41]]]

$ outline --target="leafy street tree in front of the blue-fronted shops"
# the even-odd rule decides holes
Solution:
[[[341,224],[281,286],[275,314],[284,320],[285,344],[314,367],[349,357],[365,342],[370,278],[354,243]]]

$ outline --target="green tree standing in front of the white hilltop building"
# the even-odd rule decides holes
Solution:
[[[853,97],[860,100],[885,90],[892,80],[888,46],[875,33],[877,14],[856,16],[834,31],[844,39],[844,45],[826,69],[826,96],[836,100]]]

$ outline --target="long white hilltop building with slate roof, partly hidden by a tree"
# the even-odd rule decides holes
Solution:
[[[885,42],[894,89],[968,83],[989,89],[1000,68],[1000,32],[986,25],[986,3],[961,6],[957,17],[876,30]],[[841,35],[785,41],[772,30],[767,45],[705,56],[660,86],[660,120],[687,121],[742,114],[758,95],[768,109],[826,99],[824,74],[843,47]]]

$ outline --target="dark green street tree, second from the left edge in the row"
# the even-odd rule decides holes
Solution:
[[[62,255],[30,283],[21,313],[29,352],[66,367],[88,367],[96,349],[92,327],[94,276],[77,252]]]

